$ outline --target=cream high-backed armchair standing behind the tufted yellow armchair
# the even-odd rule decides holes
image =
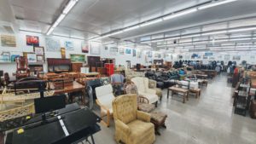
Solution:
[[[131,78],[131,81],[137,86],[138,95],[142,95],[148,99],[149,104],[155,104],[157,106],[158,95],[156,95],[155,89],[149,89],[148,78],[136,77]]]

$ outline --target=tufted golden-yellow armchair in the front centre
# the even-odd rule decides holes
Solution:
[[[125,144],[152,144],[155,141],[150,115],[137,110],[137,95],[120,95],[112,105],[115,141]]]

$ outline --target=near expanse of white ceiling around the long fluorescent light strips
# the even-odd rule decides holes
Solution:
[[[53,33],[87,39],[208,1],[79,0]],[[11,22],[21,30],[46,33],[67,2],[68,0],[1,0],[0,20]],[[134,40],[152,33],[200,26],[219,20],[232,20],[237,17],[256,16],[255,9],[255,0],[239,0],[112,37]]]

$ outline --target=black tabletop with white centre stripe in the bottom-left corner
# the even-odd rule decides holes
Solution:
[[[96,124],[100,122],[101,118],[91,112],[89,108],[67,112],[61,117],[67,131],[63,129],[63,126],[61,127],[61,120],[33,128],[22,127],[23,133],[17,134],[17,129],[7,135],[6,144],[69,144],[84,138],[87,140],[89,136],[92,143],[95,143],[92,135],[101,130],[100,126]]]

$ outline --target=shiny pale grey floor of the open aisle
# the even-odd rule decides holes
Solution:
[[[166,112],[167,129],[161,129],[155,144],[255,144],[256,119],[234,114],[232,91],[226,76],[213,78],[202,88],[200,99],[189,96],[185,104],[178,98],[164,98],[156,111]],[[112,144],[114,124],[102,125],[96,144]]]

